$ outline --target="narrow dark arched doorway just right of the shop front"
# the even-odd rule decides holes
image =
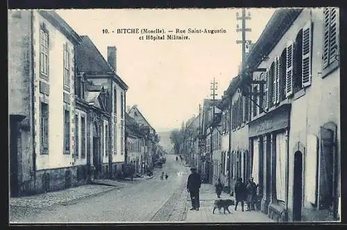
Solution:
[[[293,191],[293,220],[301,221],[301,209],[303,206],[303,154],[300,151],[294,153]]]

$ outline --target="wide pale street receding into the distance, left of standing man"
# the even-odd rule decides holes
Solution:
[[[65,199],[64,192],[37,195],[31,202],[21,206],[20,200],[10,200],[10,222],[20,223],[92,223],[92,222],[178,222],[185,219],[187,191],[185,185],[189,168],[176,161],[176,156],[167,155],[163,168],[155,170],[152,179],[134,179],[119,186],[86,185],[76,188],[76,193],[88,189],[99,189],[99,195],[85,199]],[[167,180],[160,179],[160,173],[167,172]],[[94,186],[94,187],[93,187]],[[66,194],[70,196],[72,193]],[[77,195],[76,195],[77,196]],[[80,195],[81,196],[81,195]],[[82,196],[83,197],[83,196]],[[18,198],[20,199],[20,197]],[[30,200],[30,199],[29,199]],[[34,200],[34,201],[33,201]],[[64,200],[64,199],[62,199]],[[23,200],[22,200],[23,203]]]

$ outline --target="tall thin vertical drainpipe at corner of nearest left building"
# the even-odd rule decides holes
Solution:
[[[35,150],[35,72],[34,72],[34,12],[31,10],[31,121],[33,130],[33,177],[34,188],[36,188],[36,150]]]

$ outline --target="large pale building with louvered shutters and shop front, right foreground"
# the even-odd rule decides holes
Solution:
[[[231,147],[249,155],[238,166],[237,152],[234,175],[253,175],[275,220],[339,219],[338,28],[337,8],[276,10],[235,80],[232,106],[248,120],[232,109]]]

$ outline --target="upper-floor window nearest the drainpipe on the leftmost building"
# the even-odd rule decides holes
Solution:
[[[49,75],[49,35],[44,24],[40,29],[40,73]]]

